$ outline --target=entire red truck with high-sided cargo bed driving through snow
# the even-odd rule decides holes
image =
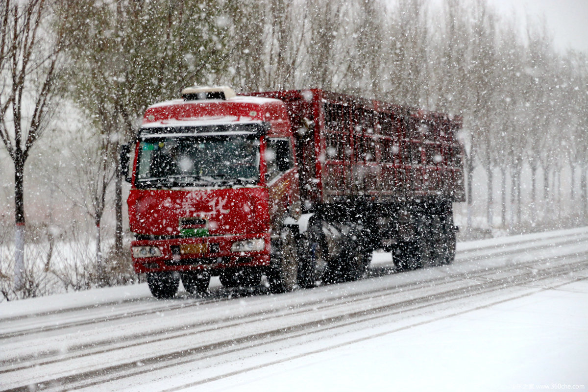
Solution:
[[[451,263],[460,128],[322,89],[185,89],[146,110],[121,155],[133,157],[135,272],[169,298],[180,280],[205,292],[211,276],[236,287],[265,274],[272,292],[355,280],[375,249],[398,270]]]

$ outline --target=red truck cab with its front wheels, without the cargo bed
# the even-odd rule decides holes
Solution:
[[[228,287],[262,274],[273,291],[296,286],[285,222],[300,214],[298,173],[282,101],[187,88],[146,110],[129,150],[133,266],[154,296],[173,297],[180,280],[204,292],[215,275]]]

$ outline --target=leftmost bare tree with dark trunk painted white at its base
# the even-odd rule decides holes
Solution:
[[[15,288],[24,270],[24,170],[48,128],[62,69],[64,32],[49,34],[51,1],[4,0],[0,5],[0,139],[14,163]]]

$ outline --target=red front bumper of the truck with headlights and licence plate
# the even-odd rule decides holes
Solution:
[[[233,243],[263,239],[262,250],[251,252],[232,252]],[[158,271],[222,270],[238,266],[269,266],[269,233],[240,234],[196,238],[176,238],[161,240],[136,240],[131,243],[133,266],[136,273]],[[136,257],[141,252],[136,247],[156,247],[159,252],[153,256]],[[213,273],[214,274],[214,273]]]

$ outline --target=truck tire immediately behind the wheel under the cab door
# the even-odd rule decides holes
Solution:
[[[322,225],[322,222],[313,223],[299,246],[298,284],[305,289],[320,284],[329,263]]]

